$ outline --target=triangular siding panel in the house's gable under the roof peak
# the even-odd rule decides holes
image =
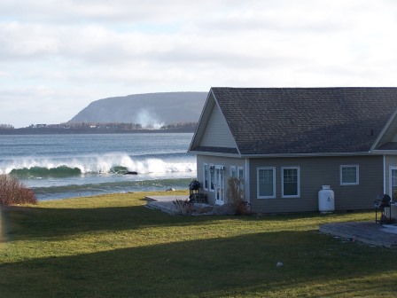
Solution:
[[[237,147],[228,124],[217,105],[214,105],[211,116],[206,124],[206,130],[201,139],[200,145],[227,148]]]

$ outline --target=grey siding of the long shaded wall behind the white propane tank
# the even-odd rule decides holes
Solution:
[[[340,166],[358,165],[359,184],[340,185]],[[276,199],[257,199],[257,168],[276,168]],[[282,167],[300,168],[300,198],[282,198]],[[336,210],[373,208],[378,193],[383,192],[383,157],[310,157],[250,160],[251,207],[255,212],[280,213],[318,210],[318,191],[331,185]]]

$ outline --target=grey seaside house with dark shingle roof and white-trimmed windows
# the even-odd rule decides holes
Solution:
[[[240,178],[256,212],[336,210],[397,200],[397,88],[212,88],[191,140],[202,192],[227,202]]]

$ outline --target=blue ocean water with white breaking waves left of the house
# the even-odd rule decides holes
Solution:
[[[196,157],[191,133],[0,136],[0,174],[38,200],[114,192],[188,189]],[[137,175],[126,175],[126,172]]]

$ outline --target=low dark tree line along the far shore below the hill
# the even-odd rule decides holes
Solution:
[[[143,127],[140,123],[80,122],[60,124],[31,124],[15,129],[10,124],[0,124],[0,134],[73,134],[73,133],[137,133],[137,132],[194,132],[198,122],[164,124],[160,127]]]

